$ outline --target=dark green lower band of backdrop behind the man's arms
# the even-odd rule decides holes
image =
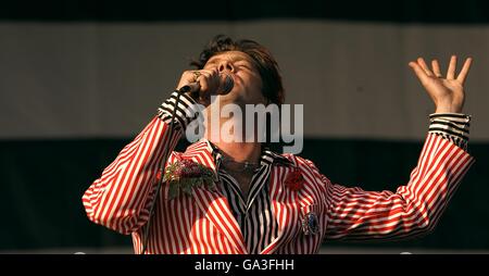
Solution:
[[[83,192],[128,141],[0,142],[4,211],[0,250],[130,247],[129,236],[90,223],[82,205]],[[185,146],[181,142],[178,149]],[[302,155],[335,183],[396,190],[408,181],[421,147],[418,142],[306,139]],[[471,143],[469,152],[477,161],[431,235],[402,242],[330,246],[489,249],[489,145]]]

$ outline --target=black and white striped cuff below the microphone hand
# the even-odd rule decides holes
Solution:
[[[172,121],[172,114],[175,109],[177,97],[178,92],[174,91],[158,109],[158,116],[165,123],[170,124]],[[190,96],[181,93],[175,112],[175,120],[178,122],[177,124],[185,129],[190,122],[199,116],[203,110],[202,108],[203,106],[197,104]]]

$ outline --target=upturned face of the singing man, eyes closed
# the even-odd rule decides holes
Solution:
[[[229,93],[217,97],[220,104],[265,103],[262,95],[262,78],[248,54],[240,51],[223,52],[209,59],[204,68],[217,68],[221,73],[229,74],[235,80],[235,86]]]

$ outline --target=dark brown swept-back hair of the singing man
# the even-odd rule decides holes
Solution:
[[[262,78],[262,95],[269,103],[284,103],[285,91],[278,64],[268,49],[256,41],[250,39],[235,41],[228,36],[217,35],[202,50],[199,60],[190,62],[190,65],[201,70],[213,55],[227,51],[240,51],[250,55]]]

